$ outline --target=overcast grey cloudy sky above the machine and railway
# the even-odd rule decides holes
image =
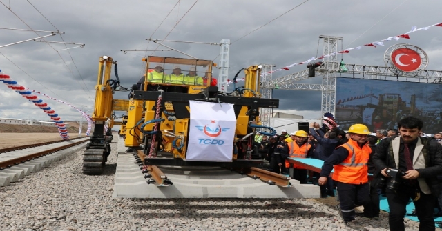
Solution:
[[[403,34],[412,26],[420,28],[442,23],[438,10],[442,8],[442,1],[309,0],[287,12],[304,1],[0,0],[1,28],[59,30],[65,32],[62,38],[56,35],[46,40],[64,39],[66,42],[86,44],[84,48],[70,50],[61,50],[66,49],[64,44],[35,41],[6,46],[0,48],[0,69],[22,86],[90,110],[95,99],[99,57],[108,55],[118,61],[122,86],[131,86],[140,79],[140,73],[144,70],[141,59],[146,53],[124,54],[120,50],[155,50],[157,45],[146,41],[149,37],[164,39],[167,35],[166,39],[200,42],[230,39],[233,43],[229,79],[233,79],[240,68],[247,66],[268,63],[281,68],[316,57],[317,54],[320,56],[323,48],[322,43],[318,44],[318,37],[321,34],[343,37],[342,47],[351,48]],[[169,17],[166,17],[168,14]],[[284,15],[279,17],[281,14]],[[263,26],[273,19],[276,20]],[[244,37],[253,30],[256,31]],[[6,29],[0,29],[0,33],[0,46],[48,34]],[[410,34],[410,37],[390,41],[384,47],[354,50],[345,54],[343,59],[345,63],[382,66],[383,54],[389,46],[411,43],[427,52],[430,61],[428,69],[442,70],[442,28],[421,30]],[[215,59],[219,54],[218,46],[164,44],[200,59]],[[67,45],[68,48],[74,46],[77,45]],[[152,52],[147,53],[150,54]],[[154,54],[184,57],[173,51]],[[216,63],[218,59],[214,61]],[[273,78],[303,69],[305,66],[296,66],[273,74]],[[112,78],[115,79],[115,76]],[[321,77],[302,81],[320,82]],[[0,97],[0,117],[48,119],[42,110],[4,85],[0,86]],[[116,97],[127,99],[126,93],[117,94]],[[307,119],[320,116],[320,92],[274,90],[273,97],[280,99],[280,108],[275,111],[301,114]],[[44,100],[61,119],[79,119],[80,114],[76,110],[50,99]]]

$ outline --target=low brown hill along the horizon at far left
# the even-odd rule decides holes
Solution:
[[[68,132],[78,134],[79,123],[74,121],[65,121],[69,124]],[[88,130],[88,123],[83,123],[81,132],[84,133]],[[55,133],[58,132],[55,127],[36,126],[36,125],[15,125],[15,124],[3,124],[0,123],[0,133]]]

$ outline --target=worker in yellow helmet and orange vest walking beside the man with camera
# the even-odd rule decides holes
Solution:
[[[319,185],[327,183],[334,168],[332,179],[338,188],[340,204],[336,205],[345,223],[353,221],[354,208],[369,203],[368,160],[372,149],[367,144],[370,133],[367,126],[356,123],[349,128],[350,139],[338,146],[324,161],[320,171]]]

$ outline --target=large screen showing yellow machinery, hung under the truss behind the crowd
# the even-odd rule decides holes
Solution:
[[[375,132],[397,128],[407,116],[423,120],[424,133],[442,132],[442,84],[336,79],[336,120],[344,129],[363,123]]]

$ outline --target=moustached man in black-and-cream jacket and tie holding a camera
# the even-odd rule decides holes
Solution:
[[[400,136],[384,139],[376,148],[373,163],[385,181],[390,230],[405,230],[405,207],[413,200],[420,231],[435,230],[434,201],[439,195],[437,175],[442,174],[442,146],[419,137],[423,122],[405,117],[398,123]],[[381,183],[382,184],[382,183]]]

